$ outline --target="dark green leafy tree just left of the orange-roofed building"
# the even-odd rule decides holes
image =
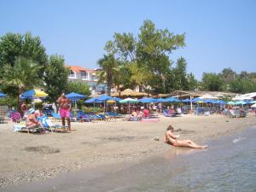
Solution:
[[[64,66],[61,55],[49,56],[48,65],[44,72],[45,91],[50,102],[56,102],[61,92],[67,89],[67,78],[70,70]]]

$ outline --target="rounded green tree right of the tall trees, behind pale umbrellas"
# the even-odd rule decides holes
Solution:
[[[203,90],[220,91],[223,90],[224,81],[216,73],[203,73],[202,88]]]

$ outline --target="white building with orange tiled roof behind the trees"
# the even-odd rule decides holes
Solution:
[[[70,69],[68,80],[86,82],[90,86],[91,95],[104,94],[107,84],[97,84],[96,70],[80,66],[66,66]]]

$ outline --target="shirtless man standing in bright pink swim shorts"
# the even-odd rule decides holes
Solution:
[[[65,126],[65,118],[66,118],[67,125],[68,125],[67,131],[71,131],[70,113],[69,113],[69,110],[71,109],[71,102],[69,101],[67,96],[65,96],[65,93],[61,94],[61,96],[58,98],[57,102],[59,103],[62,125]]]

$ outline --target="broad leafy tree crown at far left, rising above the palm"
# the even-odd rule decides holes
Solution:
[[[46,65],[47,55],[39,37],[32,37],[30,32],[7,33],[0,38],[0,67],[15,65],[17,57],[24,57],[39,65]]]

